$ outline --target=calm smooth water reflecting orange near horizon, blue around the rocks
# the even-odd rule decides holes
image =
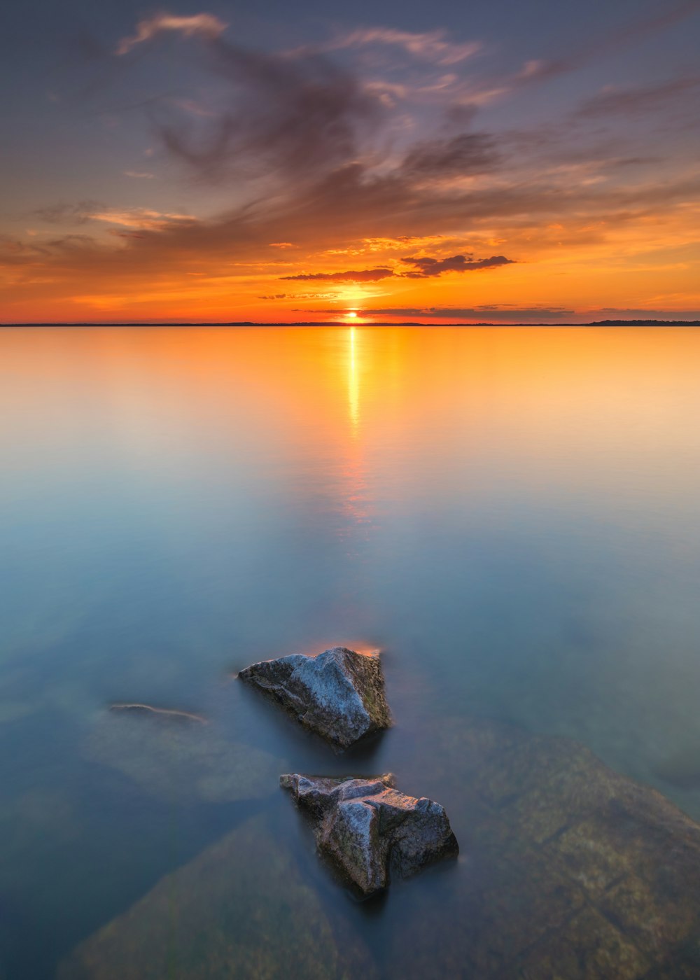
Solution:
[[[353,767],[407,792],[449,803],[430,733],[480,715],[700,818],[699,365],[682,328],[0,331],[0,975],[237,826],[371,950],[441,907],[446,874],[368,911],[319,869],[258,760],[347,763],[231,679],[264,658],[380,647],[397,724]],[[252,788],[198,781],[209,743],[170,772],[122,700],[209,718]]]

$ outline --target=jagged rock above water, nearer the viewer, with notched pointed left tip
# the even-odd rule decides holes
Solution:
[[[397,792],[390,773],[375,779],[293,773],[279,783],[316,817],[320,851],[363,895],[386,888],[391,872],[408,877],[459,850],[439,803]]]

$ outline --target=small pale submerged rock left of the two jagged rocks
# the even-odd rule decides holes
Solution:
[[[103,712],[83,752],[149,796],[180,804],[270,796],[280,766],[270,753],[228,741],[197,715],[142,705]]]

